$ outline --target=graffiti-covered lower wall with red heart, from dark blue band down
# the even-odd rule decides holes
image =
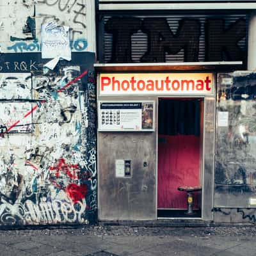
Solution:
[[[11,62],[12,56],[4,58]],[[38,61],[40,55],[23,58]],[[38,67],[32,77],[0,73],[1,225],[96,220],[93,61],[94,54],[84,52],[53,71]]]

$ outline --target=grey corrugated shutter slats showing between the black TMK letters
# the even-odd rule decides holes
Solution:
[[[140,19],[145,18],[145,16],[134,16],[138,17]],[[147,16],[148,18],[149,16]],[[156,16],[154,16],[156,17]],[[158,16],[159,17],[159,16]],[[179,28],[179,20],[184,18],[192,18],[192,19],[198,19],[201,24],[201,35],[200,35],[200,42],[199,42],[199,52],[198,52],[198,61],[205,61],[205,20],[208,18],[212,18],[212,16],[207,15],[193,15],[193,16],[186,16],[186,15],[172,15],[172,16],[164,16],[170,26],[170,29],[172,29],[173,34],[177,32],[177,29]],[[104,16],[104,24],[108,21],[110,16]],[[228,15],[228,16],[214,16],[214,19],[225,19],[225,26],[228,28],[230,24],[235,22],[239,18],[246,19],[246,15]],[[125,29],[125,28],[124,28]],[[216,42],[218,42],[220,38],[216,38]],[[134,62],[140,62],[141,56],[145,54],[147,51],[147,34],[143,33],[142,31],[138,31],[138,33],[135,33],[131,37],[132,40],[132,61]],[[239,46],[246,50],[246,38],[243,38],[239,42]],[[112,34],[105,33],[104,34],[104,61],[105,63],[108,63],[111,59],[111,52],[112,52]],[[184,61],[184,50],[181,50],[178,54],[170,55],[166,54],[166,62],[183,62]]]

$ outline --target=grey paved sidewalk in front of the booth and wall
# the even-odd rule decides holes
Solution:
[[[255,256],[256,227],[90,226],[0,231],[0,255]]]

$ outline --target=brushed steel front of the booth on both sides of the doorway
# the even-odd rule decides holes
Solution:
[[[106,97],[98,95],[98,100],[103,99],[106,100]],[[108,100],[115,99],[108,97]],[[127,100],[127,97],[119,99]],[[157,97],[129,98],[140,99],[156,100]],[[201,162],[203,220],[212,220],[215,109],[215,97],[205,97]],[[155,220],[157,125],[156,132],[98,132],[98,159],[99,220]],[[131,178],[115,177],[116,159],[132,160]],[[147,167],[143,166],[144,162],[147,162]]]

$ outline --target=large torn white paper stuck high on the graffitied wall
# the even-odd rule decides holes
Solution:
[[[42,24],[42,59],[70,58],[69,27],[58,26],[55,21]]]

